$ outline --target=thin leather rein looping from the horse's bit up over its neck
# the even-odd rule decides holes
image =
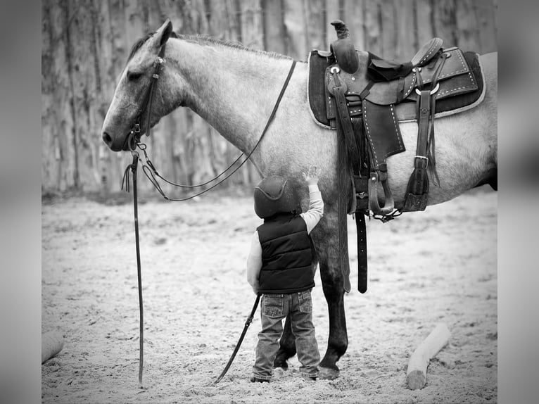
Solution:
[[[160,187],[160,184],[159,184],[159,182],[157,180],[157,177],[159,177],[160,179],[163,179],[163,181],[167,182],[168,184],[171,184],[171,185],[173,185],[175,187],[179,187],[179,188],[198,188],[198,187],[203,187],[203,186],[205,186],[207,184],[210,184],[211,182],[215,181],[217,178],[221,177],[222,175],[224,175],[224,173],[227,172],[228,170],[230,170],[241,159],[242,156],[245,156],[245,153],[241,153],[238,156],[238,158],[236,158],[236,160],[234,160],[224,171],[222,171],[219,175],[217,175],[213,179],[210,179],[207,182],[204,182],[203,184],[196,184],[196,185],[176,184],[175,182],[171,182],[171,181],[165,179],[164,177],[162,177],[158,173],[155,166],[153,165],[151,160],[148,158],[148,153],[146,152],[146,144],[141,143],[140,139],[137,139],[136,134],[134,134],[132,132],[132,134],[130,134],[130,137],[132,137],[132,139],[134,140],[137,147],[144,153],[144,158],[145,158],[146,162],[141,160],[138,152],[132,151],[132,153],[136,153],[137,158],[139,158],[139,160],[141,162],[142,172],[144,172],[144,175],[146,175],[146,177],[148,177],[148,180],[151,182],[153,187],[159,192],[159,194],[161,194],[161,196],[163,196],[163,198],[165,198],[167,201],[174,201],[174,202],[188,201],[189,199],[195,198],[196,196],[200,196],[202,194],[205,194],[205,192],[210,191],[210,189],[214,189],[215,187],[217,187],[218,185],[220,185],[224,181],[226,181],[230,176],[232,176],[234,174],[234,172],[239,170],[243,166],[243,164],[245,164],[247,162],[247,160],[251,157],[251,155],[255,152],[255,150],[258,148],[258,145],[260,144],[260,142],[264,138],[264,135],[266,134],[268,128],[270,127],[271,122],[275,118],[275,114],[277,113],[277,108],[279,108],[279,104],[281,103],[281,99],[284,96],[284,91],[286,91],[286,87],[288,87],[288,82],[290,82],[290,79],[292,77],[292,73],[293,73],[293,70],[294,70],[295,67],[296,67],[296,61],[293,60],[292,65],[291,65],[290,69],[288,70],[288,75],[286,76],[286,80],[284,81],[283,87],[281,88],[281,92],[279,93],[279,97],[277,98],[277,101],[276,101],[276,103],[275,103],[275,105],[273,107],[272,113],[270,114],[270,118],[268,118],[268,120],[266,122],[266,125],[264,127],[264,130],[262,130],[262,134],[260,135],[260,139],[258,139],[258,141],[256,142],[256,144],[253,147],[253,149],[251,150],[251,152],[248,153],[248,155],[241,161],[241,163],[236,168],[234,168],[234,170],[232,170],[232,172],[229,172],[229,174],[226,175],[224,178],[222,178],[219,182],[213,184],[211,187],[208,187],[207,189],[203,189],[202,191],[200,191],[200,192],[198,192],[198,193],[196,193],[194,195],[186,196],[185,198],[170,198],[169,196],[167,196],[165,194],[165,191],[163,191],[163,189]],[[129,140],[129,142],[130,141],[131,140]],[[126,170],[126,173],[127,173],[127,170]],[[126,173],[124,174],[124,180],[125,180],[125,177],[126,177]],[[129,177],[128,173],[127,173],[127,177]],[[127,181],[127,182],[129,182],[129,181]],[[123,181],[122,181],[122,188],[123,188]],[[127,189],[127,191],[129,191],[129,186],[127,186],[126,189]]]

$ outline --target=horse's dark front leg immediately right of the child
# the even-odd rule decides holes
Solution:
[[[322,379],[335,379],[339,374],[336,362],[348,348],[344,313],[344,275],[339,255],[338,213],[327,209],[324,220],[315,230],[312,232],[312,238],[317,246],[322,289],[329,312],[329,338],[326,354],[320,362],[320,372]]]

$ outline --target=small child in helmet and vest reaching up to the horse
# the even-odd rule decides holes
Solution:
[[[267,177],[255,187],[255,213],[264,224],[253,234],[247,259],[247,280],[262,293],[256,359],[251,381],[270,381],[283,332],[282,320],[291,316],[296,352],[305,379],[319,376],[320,354],[312,324],[311,289],[315,286],[310,232],[324,214],[318,175],[311,165],[303,179],[309,187],[309,210],[301,212],[295,189],[283,177]]]

